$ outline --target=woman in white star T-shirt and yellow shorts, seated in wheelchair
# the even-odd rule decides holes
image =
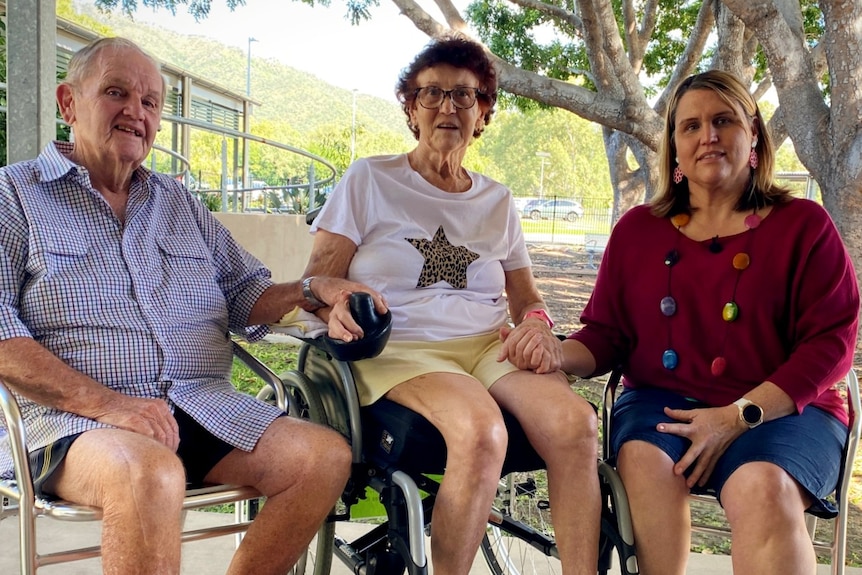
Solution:
[[[507,446],[501,407],[547,463],[563,572],[595,573],[595,411],[554,367],[558,354],[544,351],[553,323],[511,192],[461,165],[491,120],[496,89],[481,46],[432,41],[397,85],[418,145],[347,170],[312,227],[306,276],[366,282],[392,311],[386,349],[354,368],[363,404],[386,396],[446,441],[435,574],[467,573],[485,532]],[[522,369],[528,364],[535,370]]]

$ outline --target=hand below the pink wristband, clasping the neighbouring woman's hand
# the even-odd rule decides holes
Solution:
[[[515,328],[500,328],[503,346],[497,361],[509,360],[519,369],[532,369],[536,373],[553,373],[563,364],[560,340],[544,321],[530,318]]]

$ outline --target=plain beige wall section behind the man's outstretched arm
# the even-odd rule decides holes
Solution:
[[[214,213],[239,244],[272,270],[272,279],[299,279],[313,237],[304,215]]]

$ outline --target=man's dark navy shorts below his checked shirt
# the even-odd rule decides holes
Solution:
[[[234,447],[214,436],[178,407],[174,408],[174,419],[177,420],[180,431],[177,455],[186,469],[186,482],[189,485],[200,485],[207,473],[233,451]],[[69,447],[80,436],[80,433],[69,435],[30,452],[30,473],[33,474],[37,497],[54,497],[54,494],[43,491],[45,482],[57,471],[69,452]]]

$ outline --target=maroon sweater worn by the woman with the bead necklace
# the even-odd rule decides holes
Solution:
[[[584,309],[572,334],[596,359],[596,374],[622,365],[628,387],[659,387],[722,406],[771,381],[802,411],[815,405],[844,423],[847,411],[834,384],[853,364],[859,292],[847,250],[826,211],[795,199],[776,206],[755,230],[709,242],[683,236],[648,206],[629,210],[614,227]],[[679,262],[668,277],[666,254]],[[735,322],[722,319],[737,280],[732,259],[748,252]],[[662,315],[669,293],[676,314]],[[672,347],[673,371],[662,366]],[[720,376],[716,356],[727,360]]]

